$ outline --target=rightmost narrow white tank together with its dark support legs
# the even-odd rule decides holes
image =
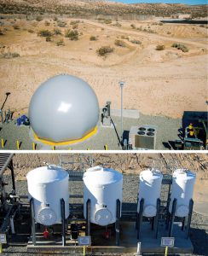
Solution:
[[[194,207],[193,193],[195,179],[196,175],[186,169],[177,169],[173,172],[171,195],[168,204],[169,214],[166,222],[166,229],[169,229],[169,236],[172,236],[175,217],[182,218],[182,230],[184,230],[185,223],[187,223],[187,238],[189,236]]]

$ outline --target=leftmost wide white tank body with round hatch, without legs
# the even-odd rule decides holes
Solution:
[[[58,166],[43,166],[28,172],[26,179],[36,222],[61,224],[61,198],[65,201],[65,217],[69,216],[68,172]]]

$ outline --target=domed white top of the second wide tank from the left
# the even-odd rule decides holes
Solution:
[[[87,169],[83,176],[84,182],[96,185],[106,185],[109,183],[117,183],[123,179],[123,175],[111,168],[103,168],[95,166]]]

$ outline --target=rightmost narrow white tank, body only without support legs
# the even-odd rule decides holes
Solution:
[[[196,175],[186,169],[177,169],[173,172],[170,195],[169,212],[172,211],[172,202],[176,198],[177,217],[186,217],[189,212],[189,201],[193,198]]]

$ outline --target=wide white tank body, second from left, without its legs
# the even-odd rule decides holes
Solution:
[[[122,202],[123,175],[113,169],[95,166],[84,172],[84,218],[90,199],[90,222],[106,226],[116,222],[116,201]],[[121,213],[120,213],[121,214]]]

